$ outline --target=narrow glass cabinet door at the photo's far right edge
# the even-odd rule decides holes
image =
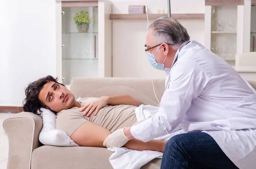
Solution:
[[[250,52],[256,52],[256,6],[251,6]]]

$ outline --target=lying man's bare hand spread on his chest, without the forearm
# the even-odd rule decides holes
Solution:
[[[96,100],[93,100],[92,102],[88,103],[85,106],[81,106],[79,109],[80,112],[83,112],[83,115],[89,117],[95,110],[94,115],[96,116],[99,112],[99,110],[103,107],[105,107],[108,104],[108,96],[102,96],[99,97]]]

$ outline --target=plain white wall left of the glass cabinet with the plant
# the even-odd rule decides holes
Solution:
[[[55,0],[0,0],[0,106],[22,106],[24,88],[56,75]]]

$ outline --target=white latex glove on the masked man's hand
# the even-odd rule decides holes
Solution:
[[[113,149],[114,147],[120,148],[125,145],[129,140],[124,133],[124,128],[116,130],[109,135],[103,143],[103,146]]]

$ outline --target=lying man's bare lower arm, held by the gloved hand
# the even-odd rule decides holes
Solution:
[[[111,132],[107,129],[87,121],[73,132],[71,139],[79,146],[105,147],[103,142],[110,134]],[[137,139],[131,139],[125,144],[125,147],[140,151],[153,150],[163,152],[165,144],[166,141],[163,140],[151,140],[144,143]]]

